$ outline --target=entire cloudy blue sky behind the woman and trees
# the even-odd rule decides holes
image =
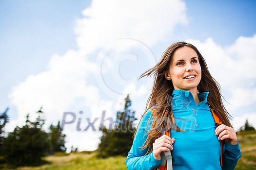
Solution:
[[[256,127],[255,0],[0,0],[0,113],[6,131],[37,117],[62,122],[67,148],[95,150],[127,94],[139,119],[152,77],[176,41],[205,58],[235,130]]]

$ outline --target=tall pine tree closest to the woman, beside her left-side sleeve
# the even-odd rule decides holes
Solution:
[[[105,127],[102,129],[100,144],[98,145],[98,156],[108,157],[113,155],[126,156],[133,143],[136,120],[135,111],[130,109],[132,101],[129,95],[124,99],[124,109],[117,112],[116,125],[112,130]]]

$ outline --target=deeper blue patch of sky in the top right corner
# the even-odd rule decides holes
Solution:
[[[185,0],[191,18],[189,37],[207,37],[220,45],[232,44],[239,36],[255,34],[254,0]]]

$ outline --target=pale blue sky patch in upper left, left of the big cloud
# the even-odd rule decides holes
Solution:
[[[1,108],[11,106],[6,99],[12,85],[45,70],[52,54],[76,49],[75,20],[88,5],[86,0],[0,1]]]

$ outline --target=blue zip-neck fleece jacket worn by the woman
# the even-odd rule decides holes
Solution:
[[[185,132],[171,130],[175,138],[172,159],[173,170],[221,170],[220,144],[215,136],[215,122],[207,104],[209,92],[199,93],[200,102],[196,104],[191,92],[174,90],[172,108],[177,126]],[[133,145],[126,159],[128,170],[153,170],[161,160],[156,160],[153,153],[146,154],[141,150],[146,133],[153,121],[151,109],[141,119]],[[148,123],[149,122],[149,123]],[[224,143],[222,170],[234,170],[237,160],[241,157],[239,144]]]

